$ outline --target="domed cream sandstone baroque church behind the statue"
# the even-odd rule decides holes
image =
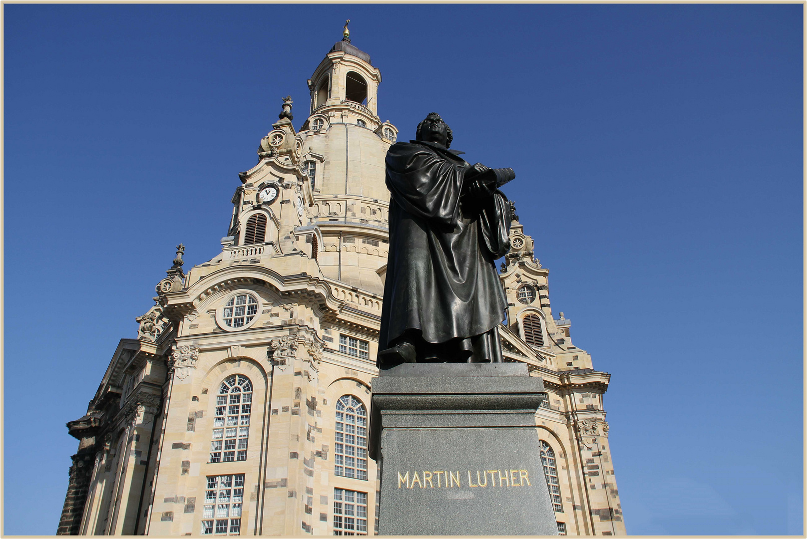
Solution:
[[[137,338],[120,340],[86,414],[67,424],[78,449],[57,533],[376,533],[367,422],[389,245],[384,158],[399,136],[378,115],[380,83],[345,25],[308,80],[307,119],[295,129],[284,99],[257,164],[238,175],[221,252],[185,269],[178,245]],[[535,451],[558,533],[624,535],[610,375],[554,317],[549,270],[511,207],[501,344],[548,393]]]

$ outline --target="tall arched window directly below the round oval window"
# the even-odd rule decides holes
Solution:
[[[215,396],[213,440],[210,462],[245,461],[249,441],[249,414],[252,411],[252,384],[249,378],[233,374]]]

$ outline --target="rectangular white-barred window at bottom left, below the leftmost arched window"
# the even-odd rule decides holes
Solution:
[[[244,474],[208,475],[204,495],[202,533],[240,535]]]

